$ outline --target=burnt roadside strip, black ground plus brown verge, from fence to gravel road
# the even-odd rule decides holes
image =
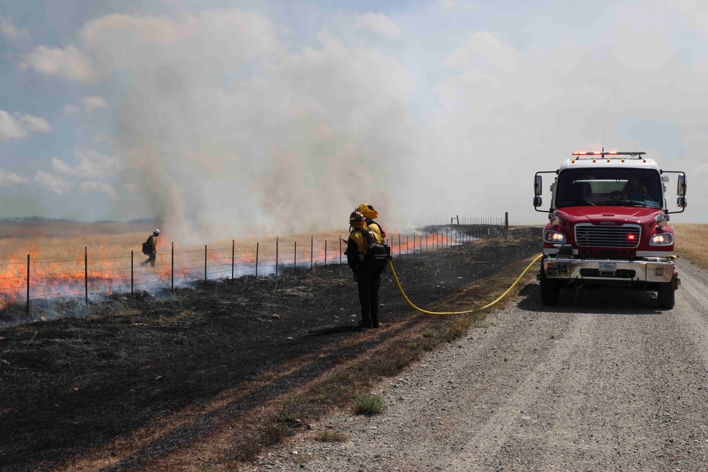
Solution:
[[[539,252],[537,232],[394,267],[417,306],[475,309]],[[333,408],[354,413],[354,398],[485,314],[413,311],[387,272],[382,328],[359,331],[356,290],[339,265],[114,298],[81,318],[0,330],[6,470],[238,470]]]

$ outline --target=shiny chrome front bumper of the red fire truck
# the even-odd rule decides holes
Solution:
[[[547,257],[543,259],[543,271],[546,277],[554,280],[671,282],[674,268],[673,260],[667,258],[593,260]]]

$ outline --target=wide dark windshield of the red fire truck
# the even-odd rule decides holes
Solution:
[[[558,176],[556,207],[623,205],[661,208],[661,178],[651,169],[569,169]]]

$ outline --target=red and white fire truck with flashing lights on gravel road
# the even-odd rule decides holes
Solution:
[[[534,178],[533,205],[542,205],[542,174],[554,173],[549,222],[543,229],[538,280],[544,305],[562,287],[616,286],[657,292],[671,309],[680,280],[669,214],[687,206],[686,175],[663,171],[643,151],[573,152],[556,171]],[[666,183],[677,175],[678,211],[669,212]]]

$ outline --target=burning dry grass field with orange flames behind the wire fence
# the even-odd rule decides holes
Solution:
[[[348,231],[215,239],[183,246],[169,229],[158,239],[156,265],[142,243],[152,223],[77,223],[64,220],[0,220],[0,309],[33,300],[155,292],[198,280],[278,275],[314,265],[346,264]],[[451,234],[450,238],[457,238]],[[389,234],[394,253],[445,246],[447,234]],[[28,287],[29,280],[29,287]]]

